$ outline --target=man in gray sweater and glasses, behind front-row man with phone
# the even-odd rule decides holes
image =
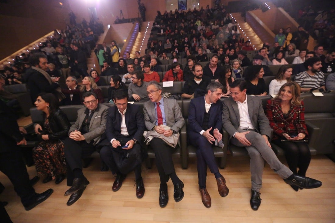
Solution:
[[[149,97],[146,93],[147,82],[144,82],[144,74],[141,71],[134,71],[131,74],[132,83],[128,86],[129,101],[147,100]]]

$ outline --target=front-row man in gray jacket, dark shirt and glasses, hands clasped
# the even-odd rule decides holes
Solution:
[[[71,195],[68,206],[76,202],[89,184],[82,172],[82,159],[95,151],[106,130],[108,107],[99,104],[97,95],[87,91],[83,95],[86,107],[78,110],[76,122],[69,130],[69,137],[64,142],[64,153],[67,165],[67,185],[71,186],[64,196]]]

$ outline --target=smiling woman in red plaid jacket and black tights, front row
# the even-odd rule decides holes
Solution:
[[[278,95],[266,104],[266,116],[274,132],[272,142],[285,150],[290,170],[302,176],[306,175],[311,161],[304,112],[304,103],[300,100],[300,87],[295,82],[281,86]],[[299,189],[296,186],[291,187],[295,191]]]

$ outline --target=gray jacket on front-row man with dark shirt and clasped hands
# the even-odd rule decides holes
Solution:
[[[69,134],[74,130],[80,131],[81,125],[86,117],[86,114],[84,113],[85,110],[86,107],[78,110],[77,120],[70,127]],[[93,140],[93,145],[96,145],[100,141],[102,134],[104,134],[106,130],[107,114],[108,107],[106,105],[99,104],[99,110],[93,114],[91,122],[89,123],[89,132],[84,134],[85,141],[87,143]]]

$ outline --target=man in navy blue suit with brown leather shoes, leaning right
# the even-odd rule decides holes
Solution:
[[[215,162],[212,146],[215,141],[221,141],[222,134],[222,103],[220,97],[224,87],[219,82],[211,82],[206,88],[204,97],[191,100],[189,107],[189,125],[187,135],[191,145],[197,147],[197,169],[199,191],[205,207],[211,206],[211,198],[206,190],[207,166],[216,178],[217,188],[221,197],[229,193],[225,182]]]

